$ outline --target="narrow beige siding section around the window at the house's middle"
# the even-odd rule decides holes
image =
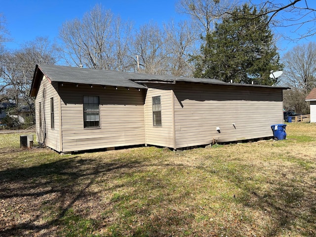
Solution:
[[[146,144],[174,148],[173,94],[170,86],[149,88],[145,100]],[[161,126],[153,125],[152,97],[161,96]]]

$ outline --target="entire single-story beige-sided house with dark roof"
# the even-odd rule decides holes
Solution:
[[[285,87],[37,65],[38,142],[57,152],[273,137]]]

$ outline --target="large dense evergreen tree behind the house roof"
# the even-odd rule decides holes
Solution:
[[[201,55],[195,56],[194,76],[226,82],[272,85],[271,70],[281,69],[267,15],[256,7],[236,7],[230,18],[215,25],[203,38]]]

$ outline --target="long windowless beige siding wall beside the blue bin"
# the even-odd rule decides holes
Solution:
[[[270,137],[283,123],[282,90],[183,84],[174,96],[177,148]]]

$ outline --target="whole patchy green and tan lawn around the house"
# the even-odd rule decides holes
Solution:
[[[65,156],[0,134],[0,236],[316,236],[316,124],[286,132]]]

